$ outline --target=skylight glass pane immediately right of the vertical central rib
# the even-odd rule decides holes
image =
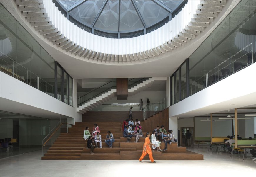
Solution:
[[[120,6],[120,31],[129,31],[143,28],[137,12],[132,2],[129,0],[121,1]]]

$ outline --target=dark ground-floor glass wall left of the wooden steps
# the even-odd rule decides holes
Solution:
[[[50,130],[60,120],[67,121],[67,118],[46,119],[5,111],[0,111],[0,117],[0,143],[10,142],[8,149],[1,150],[0,158],[41,150],[42,140]]]

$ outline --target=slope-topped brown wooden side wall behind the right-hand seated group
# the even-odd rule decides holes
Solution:
[[[141,122],[142,132],[150,132],[157,127],[157,125],[161,128],[161,125],[164,125],[165,130],[168,130],[169,127],[169,110],[166,108],[162,112],[159,112],[156,115],[153,115],[150,118],[147,118],[143,122]]]

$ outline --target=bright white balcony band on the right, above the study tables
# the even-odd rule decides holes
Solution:
[[[256,63],[169,107],[169,117],[199,115],[254,105]]]

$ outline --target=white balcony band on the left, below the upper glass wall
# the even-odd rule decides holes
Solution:
[[[77,113],[76,104],[75,107],[69,106],[3,72],[0,72],[0,80],[0,110],[26,115],[31,115],[30,113],[33,112],[33,115],[38,117],[43,117],[43,113],[49,117],[60,114],[82,121],[82,114]],[[76,98],[76,87],[74,87],[74,98]],[[38,115],[35,115],[36,113]]]

